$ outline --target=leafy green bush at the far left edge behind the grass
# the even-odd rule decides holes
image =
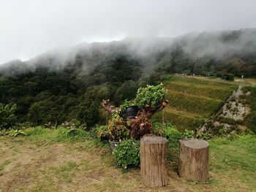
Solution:
[[[15,115],[16,105],[0,103],[0,130],[4,128],[12,128],[17,123]]]

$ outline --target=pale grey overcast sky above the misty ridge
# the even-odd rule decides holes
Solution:
[[[255,0],[0,0],[0,64],[80,42],[256,28]]]

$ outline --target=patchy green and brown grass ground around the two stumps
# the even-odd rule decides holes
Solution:
[[[29,128],[28,136],[0,137],[0,191],[255,191],[256,138],[210,143],[210,180],[178,177],[178,147],[170,148],[168,184],[146,188],[140,169],[116,168],[110,147],[88,139],[86,131]],[[173,158],[174,157],[174,158]]]

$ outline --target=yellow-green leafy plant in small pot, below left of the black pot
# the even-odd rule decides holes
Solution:
[[[112,118],[108,121],[108,139],[110,147],[115,150],[121,140],[129,138],[129,129],[127,128],[127,121],[118,114],[113,112]]]

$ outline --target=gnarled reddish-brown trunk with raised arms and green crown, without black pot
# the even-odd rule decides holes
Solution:
[[[139,88],[136,98],[132,101],[126,101],[121,107],[113,107],[110,105],[110,100],[103,100],[102,107],[108,112],[115,113],[126,110],[129,105],[136,105],[139,107],[138,114],[135,118],[129,119],[129,123],[124,123],[129,129],[129,137],[139,139],[145,134],[152,134],[153,128],[151,126],[151,117],[154,113],[163,110],[168,100],[165,100],[167,89],[161,84],[147,85],[146,88]]]

